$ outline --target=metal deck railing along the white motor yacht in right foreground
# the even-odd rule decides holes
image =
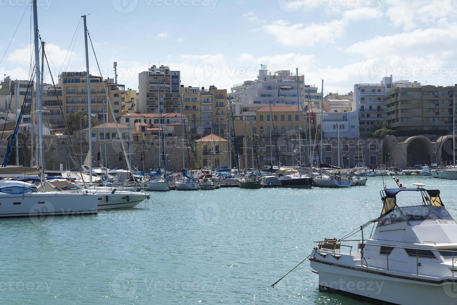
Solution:
[[[352,248],[354,246],[350,245],[345,245],[342,244],[342,242],[357,242],[357,253],[359,253],[360,250],[360,262],[361,262],[361,267],[366,267],[369,268],[368,261],[369,259],[376,260],[377,262],[379,261],[385,261],[385,268],[387,271],[389,270],[389,263],[392,267],[393,263],[401,263],[401,264],[407,264],[405,266],[415,266],[415,273],[417,276],[419,275],[424,275],[424,276],[430,276],[430,274],[421,274],[419,267],[421,266],[430,266],[430,267],[446,267],[448,266],[451,269],[452,276],[457,276],[457,270],[455,269],[457,267],[457,247],[455,249],[436,249],[434,247],[402,247],[402,246],[390,246],[390,245],[376,245],[376,244],[371,244],[371,243],[363,243],[361,240],[343,240],[343,241],[335,241],[335,240],[325,240],[325,241],[317,241],[316,243],[319,244],[318,248],[315,248],[318,251],[330,251],[334,253],[341,253],[341,247],[349,247],[349,255],[352,254]],[[424,243],[429,243],[431,246],[434,246],[435,242],[424,242]],[[373,247],[370,249],[369,247],[367,248],[366,246]],[[445,264],[443,265],[441,262],[438,261],[438,257],[436,256],[436,253],[438,252],[439,255],[444,257]],[[373,254],[377,255],[373,255]],[[413,260],[403,260],[399,258],[398,256],[391,257],[391,254],[393,253],[399,253],[399,254],[405,254],[409,258],[413,258]],[[390,258],[389,258],[390,257]],[[414,260],[415,258],[415,260]],[[425,261],[424,261],[425,259]],[[447,265],[446,262],[451,259],[451,264]],[[430,260],[427,262],[426,260]],[[430,263],[432,260],[435,263]],[[376,267],[380,268],[380,263],[376,263],[376,266],[371,266],[371,267]],[[381,264],[381,267],[382,264]],[[390,267],[390,269],[392,269]],[[414,267],[413,267],[414,268]],[[413,270],[411,268],[410,270]],[[403,268],[406,269],[406,268]],[[398,269],[395,271],[399,271]]]

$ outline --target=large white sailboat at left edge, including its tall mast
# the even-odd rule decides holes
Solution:
[[[38,125],[39,160],[41,169],[25,167],[2,167],[0,177],[15,177],[37,174],[41,185],[44,184],[44,153],[43,153],[43,115],[42,115],[42,85],[40,83],[40,57],[38,47],[38,17],[37,0],[32,1],[33,30],[35,37],[35,71],[36,71],[36,109]],[[44,49],[43,49],[44,52]],[[33,73],[32,73],[33,74]],[[32,79],[33,81],[33,79]],[[31,87],[29,87],[31,88]],[[28,90],[28,89],[27,89]],[[26,95],[27,96],[27,95]],[[24,103],[25,104],[25,103]],[[19,126],[16,125],[15,137]],[[16,152],[17,153],[17,152]],[[5,156],[5,158],[8,156]],[[34,184],[14,180],[0,181],[0,217],[16,216],[46,216],[46,215],[74,215],[97,214],[97,197],[88,193],[60,193],[38,191]]]

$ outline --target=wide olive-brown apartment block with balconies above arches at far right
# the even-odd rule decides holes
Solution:
[[[454,95],[457,84],[394,88],[383,102],[388,126],[395,130],[450,130]]]

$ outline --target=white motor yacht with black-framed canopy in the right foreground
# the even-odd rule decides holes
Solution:
[[[456,304],[457,223],[439,190],[414,185],[382,190],[378,218],[340,239],[317,242],[309,260],[320,291],[377,303]],[[417,195],[417,204],[403,205],[399,193]]]

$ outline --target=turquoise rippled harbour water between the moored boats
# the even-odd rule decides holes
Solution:
[[[400,179],[441,189],[457,216],[457,181]],[[0,220],[0,303],[364,304],[318,292],[308,261],[270,285],[313,241],[379,216],[382,186],[170,191],[96,216]]]

